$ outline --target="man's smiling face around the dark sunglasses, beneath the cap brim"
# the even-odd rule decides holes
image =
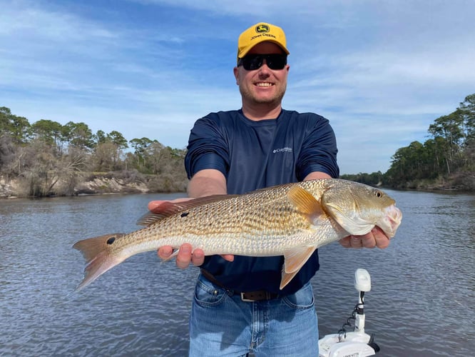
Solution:
[[[255,45],[247,54],[282,54],[277,44],[261,42]],[[247,71],[243,66],[234,68],[236,83],[242,96],[242,104],[271,104],[280,105],[287,87],[287,74],[290,66],[284,69],[270,69],[266,62],[259,69]]]

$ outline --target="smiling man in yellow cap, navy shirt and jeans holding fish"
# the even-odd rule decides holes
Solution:
[[[327,119],[282,109],[290,66],[285,34],[255,24],[237,46],[236,83],[242,109],[196,121],[185,167],[192,198],[245,193],[280,183],[338,177],[337,146]],[[151,202],[149,208],[160,201]],[[385,248],[379,228],[340,242]],[[158,250],[168,258],[170,246]],[[180,268],[201,267],[190,316],[190,356],[318,356],[318,326],[310,278],[317,251],[280,291],[283,258],[204,256],[183,244]]]

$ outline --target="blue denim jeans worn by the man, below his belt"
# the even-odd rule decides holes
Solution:
[[[268,301],[240,295],[198,277],[190,316],[190,356],[318,356],[312,286]]]

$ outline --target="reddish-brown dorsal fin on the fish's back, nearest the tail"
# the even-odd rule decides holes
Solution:
[[[153,208],[152,211],[145,213],[138,219],[137,224],[141,226],[150,226],[157,221],[173,216],[178,213],[185,213],[191,208],[201,206],[203,204],[213,203],[216,201],[223,201],[225,199],[233,198],[237,195],[212,195],[200,198],[193,198],[190,201],[171,202],[163,201],[159,206]]]

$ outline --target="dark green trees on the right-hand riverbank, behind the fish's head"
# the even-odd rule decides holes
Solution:
[[[424,144],[413,141],[398,149],[385,174],[342,178],[393,188],[475,191],[475,94],[453,113],[435,119],[428,132]]]

